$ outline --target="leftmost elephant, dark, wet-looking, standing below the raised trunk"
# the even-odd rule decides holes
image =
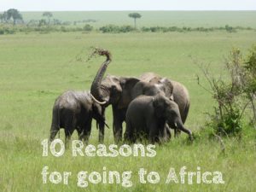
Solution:
[[[49,141],[52,142],[57,132],[64,128],[66,144],[74,130],[78,131],[80,140],[84,139],[85,142],[88,142],[91,121],[96,119],[99,128],[99,142],[102,143],[104,125],[106,125],[104,110],[105,108],[93,101],[89,91],[67,90],[55,100]]]

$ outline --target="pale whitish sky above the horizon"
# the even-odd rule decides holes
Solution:
[[[0,11],[256,10],[256,0],[0,0]]]

